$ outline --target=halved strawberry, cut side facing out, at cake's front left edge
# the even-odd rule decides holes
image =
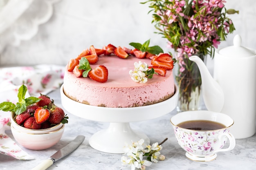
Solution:
[[[89,71],[89,77],[97,82],[104,83],[108,80],[108,69],[105,66],[98,66]]]

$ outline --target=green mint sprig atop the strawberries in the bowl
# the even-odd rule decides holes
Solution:
[[[37,97],[27,97],[25,98],[25,95],[27,93],[27,86],[22,84],[20,88],[18,89],[18,102],[15,104],[11,102],[2,102],[0,103],[0,110],[3,110],[5,112],[15,112],[16,115],[20,115],[24,111],[26,111],[27,106],[39,102],[41,99]]]

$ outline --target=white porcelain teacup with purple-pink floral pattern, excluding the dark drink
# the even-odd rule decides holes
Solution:
[[[222,124],[223,127],[215,130],[180,127],[180,124],[186,121],[198,120],[213,121]],[[234,120],[223,113],[208,110],[186,111],[171,117],[171,124],[178,144],[186,151],[186,157],[192,161],[212,161],[216,159],[217,152],[229,151],[236,146],[235,137],[229,133]],[[222,149],[227,139],[229,139],[229,147]]]

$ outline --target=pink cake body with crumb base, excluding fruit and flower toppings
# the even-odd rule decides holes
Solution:
[[[138,59],[129,56],[121,59],[115,55],[99,56],[96,68],[104,65],[108,68],[108,81],[96,82],[88,77],[77,78],[72,72],[64,75],[64,93],[77,102],[93,106],[106,107],[133,107],[143,106],[145,103],[155,103],[161,99],[167,99],[174,93],[173,71],[167,71],[166,76],[153,75],[145,84],[134,82],[129,71],[134,70],[134,62],[146,62],[151,66],[150,59]],[[167,97],[167,98],[166,98]]]

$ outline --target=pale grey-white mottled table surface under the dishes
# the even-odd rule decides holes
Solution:
[[[49,93],[58,106],[61,106],[59,90]],[[62,106],[61,106],[62,107]],[[121,165],[122,154],[110,154],[93,149],[89,145],[90,137],[97,131],[106,129],[109,123],[90,121],[76,117],[70,113],[69,123],[61,140],[47,150],[24,149],[34,160],[17,160],[13,157],[0,154],[0,170],[29,170],[42,160],[53,155],[57,150],[67,145],[77,135],[84,135],[83,143],[70,155],[56,161],[47,170],[130,170],[130,167]],[[152,163],[146,170],[255,170],[256,169],[256,135],[246,139],[236,139],[236,147],[228,152],[219,152],[216,160],[210,162],[195,162],[185,157],[185,151],[180,148],[171,127],[170,118],[176,110],[162,117],[147,121],[131,122],[134,130],[140,130],[150,138],[151,144],[161,142],[166,137],[168,140],[162,144],[161,154],[165,155],[164,161]],[[12,139],[11,131],[7,131]]]

